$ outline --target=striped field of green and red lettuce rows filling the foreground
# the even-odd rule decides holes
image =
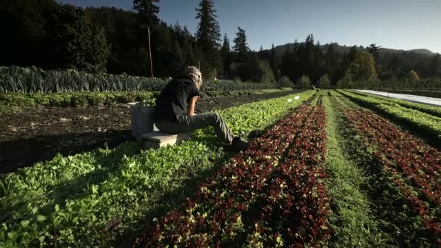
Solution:
[[[57,156],[0,180],[0,246],[440,247],[440,117],[412,104],[307,91],[218,110],[239,154]]]

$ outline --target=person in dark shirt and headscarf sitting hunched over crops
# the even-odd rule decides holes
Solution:
[[[158,130],[179,134],[212,126],[218,138],[225,143],[225,148],[246,149],[249,143],[240,137],[233,137],[232,131],[219,114],[194,114],[201,85],[201,71],[195,66],[189,66],[185,75],[172,79],[165,86],[154,108],[154,123]]]

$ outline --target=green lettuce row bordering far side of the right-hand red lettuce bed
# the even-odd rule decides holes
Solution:
[[[362,96],[347,90],[339,90],[338,92],[364,107],[369,107],[387,114],[400,123],[405,123],[416,128],[424,134],[424,136],[432,136],[433,140],[438,141],[438,143],[441,141],[441,118],[438,116],[403,107],[392,101],[384,101],[371,96]]]

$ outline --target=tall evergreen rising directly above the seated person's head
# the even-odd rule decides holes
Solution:
[[[196,8],[196,19],[199,20],[196,40],[206,63],[201,63],[203,71],[220,69],[220,27],[216,20],[213,0],[201,0]]]

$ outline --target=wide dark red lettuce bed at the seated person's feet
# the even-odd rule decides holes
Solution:
[[[324,107],[304,105],[155,219],[139,247],[303,247],[329,235]]]

